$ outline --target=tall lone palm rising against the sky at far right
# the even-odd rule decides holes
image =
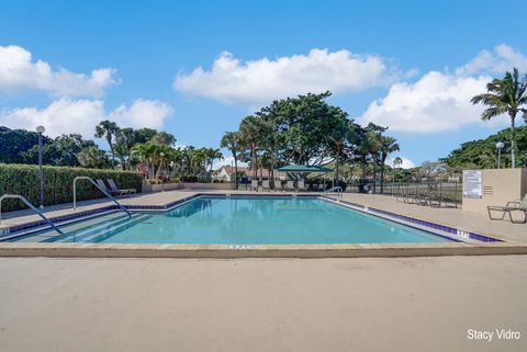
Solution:
[[[486,84],[487,93],[473,96],[472,104],[489,106],[481,114],[481,118],[489,121],[492,117],[507,113],[511,117],[511,160],[513,169],[516,167],[515,120],[519,112],[527,118],[527,75],[519,80],[518,69],[506,72],[503,79],[493,79]]]

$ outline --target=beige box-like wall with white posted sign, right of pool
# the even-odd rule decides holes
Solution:
[[[463,211],[487,214],[487,205],[505,205],[525,193],[526,168],[463,170]]]

